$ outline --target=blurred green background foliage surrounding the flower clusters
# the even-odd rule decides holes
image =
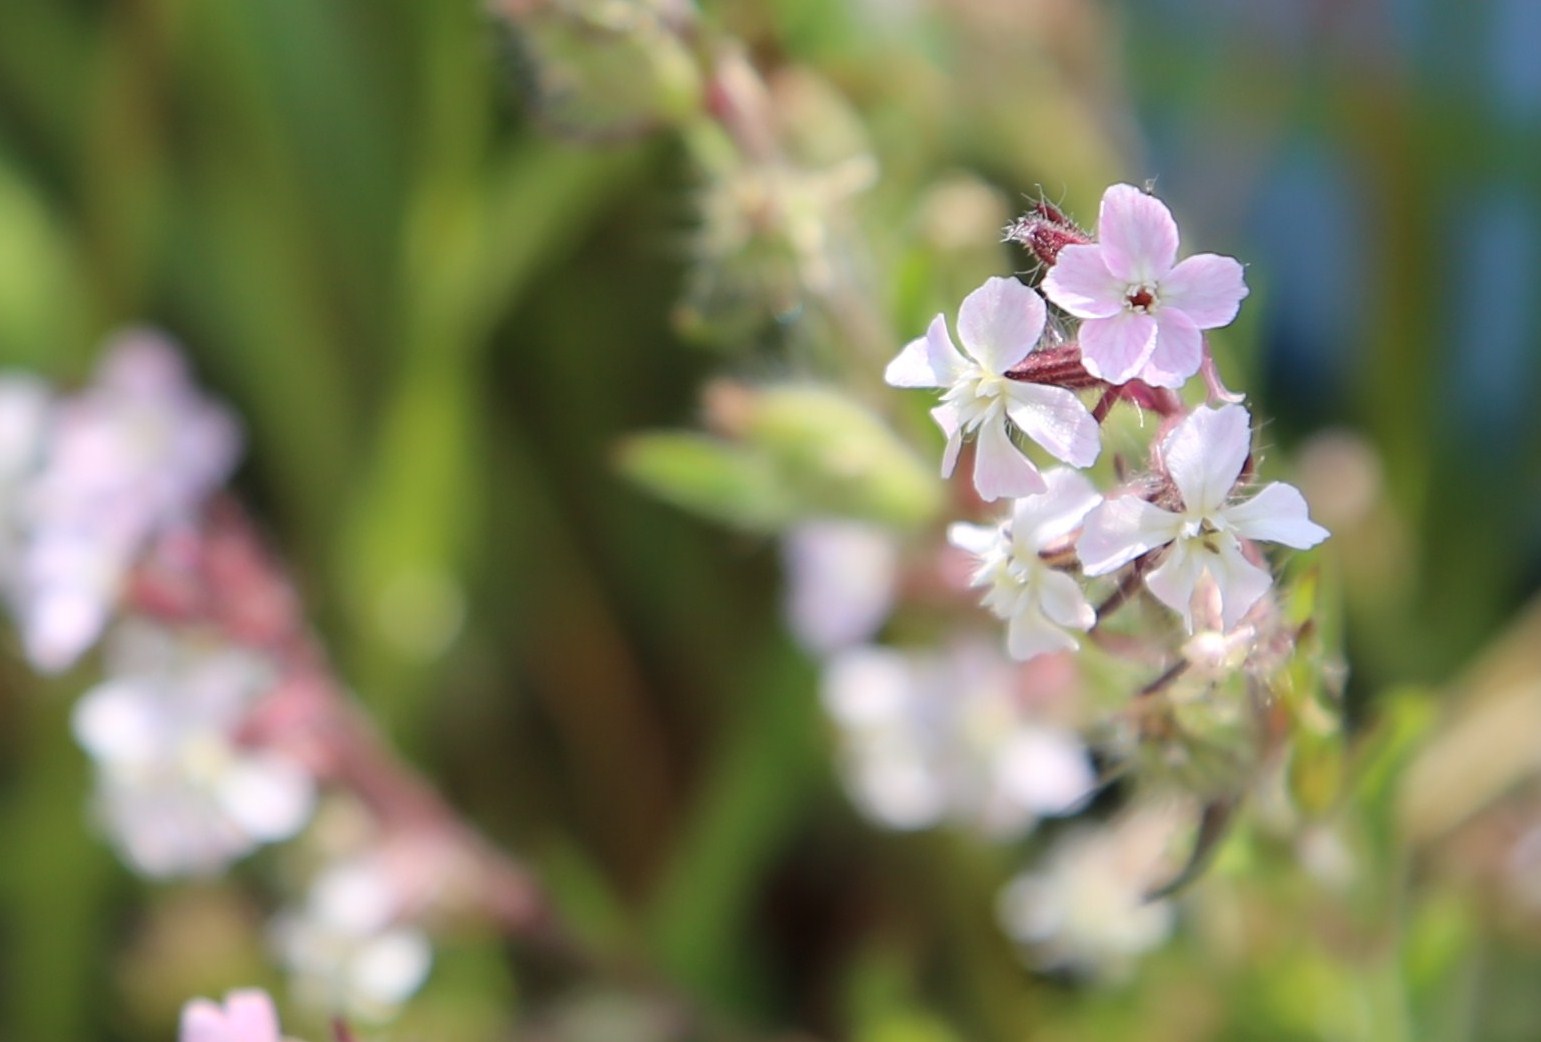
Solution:
[[[997,245],[1025,196],[1089,224],[1106,183],[1157,179],[1185,250],[1250,264],[1217,341],[1267,444],[1299,450],[1313,503],[1358,493],[1328,524],[1351,704],[1392,720],[1353,797],[1373,835],[1375,771],[1439,712],[1416,692],[1541,576],[1538,11],[723,0],[687,46],[586,57],[582,34],[448,0],[0,0],[0,361],[74,382],[112,328],[179,336],[243,416],[239,490],[394,743],[596,945],[740,1027],[1533,1039],[1529,942],[1484,940],[1465,891],[1387,926],[1408,871],[1388,846],[1365,854],[1379,899],[1307,892],[1244,846],[1245,882],[1213,883],[1230,934],[1194,929],[1111,993],[1031,980],[991,913],[1012,852],[880,834],[835,788],[774,544],[649,498],[615,452],[697,424],[724,373],[880,402],[889,351],[1025,267]],[[814,207],[841,287],[823,313],[775,271],[724,276],[700,230],[721,171],[689,69],[727,40],[791,83],[809,170],[875,160],[869,190]],[[553,92],[569,59],[590,79]],[[186,994],[271,980],[242,880],[146,892],[85,828],[65,720],[89,666],[45,691],[6,663],[0,1037],[171,1037]],[[1311,913],[1241,929],[1270,902]],[[1322,942],[1316,919],[1347,925]],[[524,979],[456,939],[398,1037],[493,1037]]]

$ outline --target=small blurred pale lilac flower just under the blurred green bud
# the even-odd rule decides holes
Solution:
[[[860,521],[809,521],[786,533],[786,621],[797,641],[829,655],[868,640],[894,606],[898,541]]]

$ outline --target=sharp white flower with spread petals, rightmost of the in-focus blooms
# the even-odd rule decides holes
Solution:
[[[1328,535],[1307,516],[1294,486],[1273,482],[1251,499],[1227,503],[1250,449],[1245,408],[1196,408],[1167,435],[1160,450],[1182,509],[1163,510],[1133,495],[1105,499],[1086,516],[1076,546],[1086,575],[1105,575],[1170,543],[1145,586],[1193,632],[1193,595],[1207,576],[1220,600],[1222,629],[1236,626],[1273,583],[1265,569],[1247,560],[1241,539],[1304,550]]]

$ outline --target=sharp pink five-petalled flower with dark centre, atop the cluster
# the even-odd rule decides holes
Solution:
[[[1180,387],[1204,361],[1200,330],[1236,318],[1247,284],[1234,257],[1199,253],[1180,264],[1171,211],[1133,185],[1102,196],[1097,242],[1066,245],[1043,293],[1080,324],[1086,371],[1110,384],[1136,376]]]

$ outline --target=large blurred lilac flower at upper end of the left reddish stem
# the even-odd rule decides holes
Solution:
[[[145,541],[188,518],[239,452],[236,421],[170,341],[131,331],[108,347],[96,382],[55,407],[20,495],[9,586],[34,666],[66,669],[96,641]]]

